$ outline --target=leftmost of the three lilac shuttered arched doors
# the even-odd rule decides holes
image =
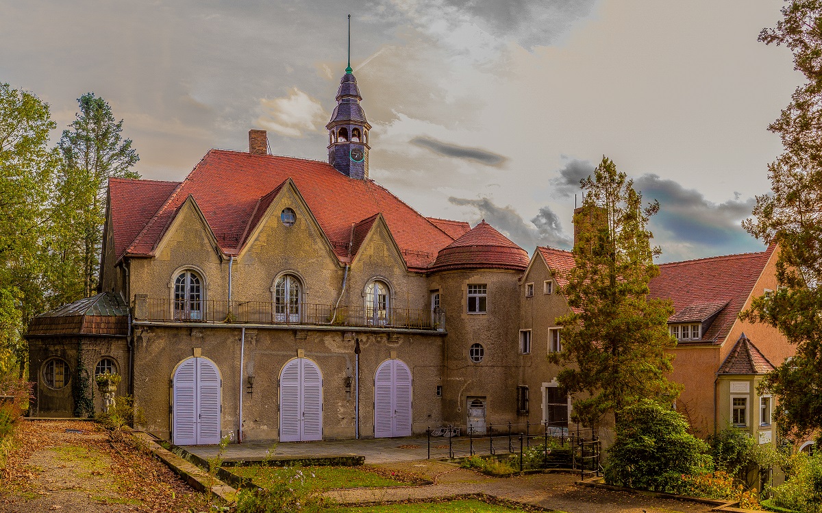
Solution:
[[[219,443],[220,379],[208,358],[183,360],[172,378],[172,443],[205,446]]]

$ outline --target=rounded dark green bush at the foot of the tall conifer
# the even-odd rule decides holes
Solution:
[[[680,491],[683,475],[710,469],[708,444],[688,433],[685,418],[652,400],[621,411],[617,440],[608,451],[605,481],[654,492]]]

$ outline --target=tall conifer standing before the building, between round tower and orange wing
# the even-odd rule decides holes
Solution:
[[[557,319],[563,351],[549,358],[564,367],[557,379],[575,395],[575,421],[593,427],[610,413],[618,423],[622,409],[643,399],[670,404],[680,388],[665,377],[665,349],[676,344],[671,302],[648,297],[660,250],[647,225],[659,204],[643,208],[633,181],[605,157],[581,186],[575,266],[563,289],[571,312]]]

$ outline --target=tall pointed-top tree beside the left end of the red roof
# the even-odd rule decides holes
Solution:
[[[132,140],[120,135],[122,119],[115,120],[108,102],[94,93],[82,95],[77,102],[80,112],[59,142],[57,202],[69,230],[59,251],[65,254],[67,266],[75,269],[67,269],[64,277],[78,277],[73,289],[82,297],[97,290],[109,178],[140,178],[131,169],[140,157]]]

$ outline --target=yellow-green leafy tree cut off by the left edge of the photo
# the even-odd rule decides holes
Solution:
[[[44,310],[44,233],[53,220],[58,155],[48,104],[0,83],[0,373],[25,364],[22,331]]]

